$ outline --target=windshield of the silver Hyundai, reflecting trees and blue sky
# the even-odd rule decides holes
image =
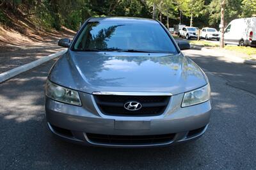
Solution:
[[[134,22],[88,22],[73,50],[177,54],[175,45],[160,24]]]

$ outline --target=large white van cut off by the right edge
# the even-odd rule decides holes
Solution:
[[[232,20],[225,29],[225,44],[256,46],[256,17]]]

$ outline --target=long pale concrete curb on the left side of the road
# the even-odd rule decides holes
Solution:
[[[0,83],[7,81],[8,79],[11,79],[12,77],[15,77],[16,75],[19,75],[20,73],[31,70],[32,68],[35,68],[36,66],[42,65],[43,63],[50,61],[51,59],[58,58],[65,52],[67,52],[67,50],[61,50],[61,51],[51,54],[49,56],[45,56],[43,58],[36,59],[36,61],[32,61],[31,63],[28,63],[26,65],[18,66],[16,68],[13,68],[12,70],[8,70],[7,72],[0,73]]]

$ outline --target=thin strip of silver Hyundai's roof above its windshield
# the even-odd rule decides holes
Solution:
[[[152,24],[159,24],[157,20],[138,17],[92,17],[89,19],[89,22],[147,22]]]

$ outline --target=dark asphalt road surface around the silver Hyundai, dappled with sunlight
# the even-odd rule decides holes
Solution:
[[[248,92],[250,86],[233,87],[246,81],[255,85],[250,77],[256,75],[255,68],[201,51],[184,53],[202,66],[212,88],[211,124],[198,141],[168,148],[113,149],[56,139],[44,115],[44,83],[53,63],[49,61],[0,84],[0,169],[255,169],[256,95]],[[228,78],[231,75],[236,78]]]

